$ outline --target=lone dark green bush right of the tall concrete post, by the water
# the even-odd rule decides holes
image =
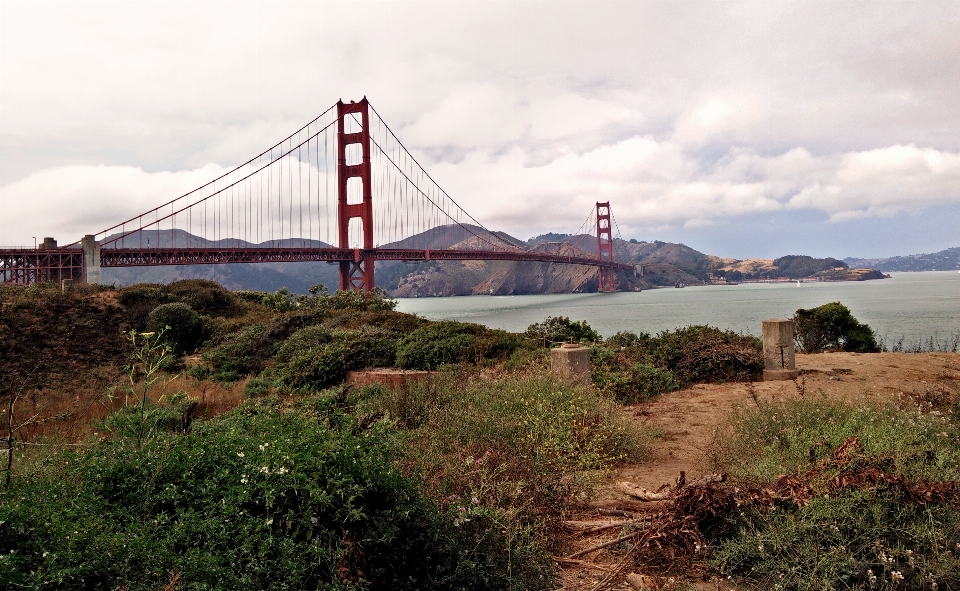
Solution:
[[[794,340],[800,351],[852,351],[875,353],[877,346],[873,330],[860,324],[840,302],[824,304],[809,310],[799,309],[793,317]]]

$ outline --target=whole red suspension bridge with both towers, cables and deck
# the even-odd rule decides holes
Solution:
[[[616,291],[617,271],[634,267],[614,260],[611,221],[610,203],[597,203],[573,242],[551,252],[492,232],[364,98],[338,102],[230,172],[80,241],[0,249],[0,282],[99,283],[104,267],[324,261],[339,264],[340,289],[369,291],[375,261],[510,260],[590,265],[599,291]],[[461,239],[431,248],[451,232]],[[581,244],[593,239],[596,254]]]

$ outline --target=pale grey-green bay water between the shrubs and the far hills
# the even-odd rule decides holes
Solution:
[[[960,273],[892,273],[890,279],[835,283],[742,283],[610,294],[401,298],[397,309],[430,320],[477,322],[523,331],[547,316],[586,320],[604,336],[709,324],[760,335],[761,321],[798,308],[841,302],[888,345],[940,342],[960,332]]]

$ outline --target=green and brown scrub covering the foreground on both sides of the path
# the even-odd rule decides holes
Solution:
[[[548,317],[513,334],[322,286],[0,297],[5,412],[43,410],[67,387],[87,406],[71,391],[39,422],[97,411],[79,437],[31,441],[4,415],[17,454],[0,491],[4,588],[556,588],[560,522],[645,455],[618,403],[763,367],[758,339],[708,326],[601,342]],[[805,350],[876,349],[839,303],[798,310],[797,324]],[[569,340],[590,346],[591,383],[550,374],[543,342]],[[433,373],[342,384],[372,366]],[[229,403],[205,398],[227,388]],[[682,489],[693,496],[656,524],[662,546],[637,538],[637,557],[699,561],[745,588],[960,588],[956,396],[754,401],[709,448],[731,482]]]

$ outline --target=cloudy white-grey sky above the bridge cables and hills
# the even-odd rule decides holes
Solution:
[[[366,95],[520,238],[610,200],[721,256],[960,246],[960,3],[0,0],[0,245],[61,243]]]

